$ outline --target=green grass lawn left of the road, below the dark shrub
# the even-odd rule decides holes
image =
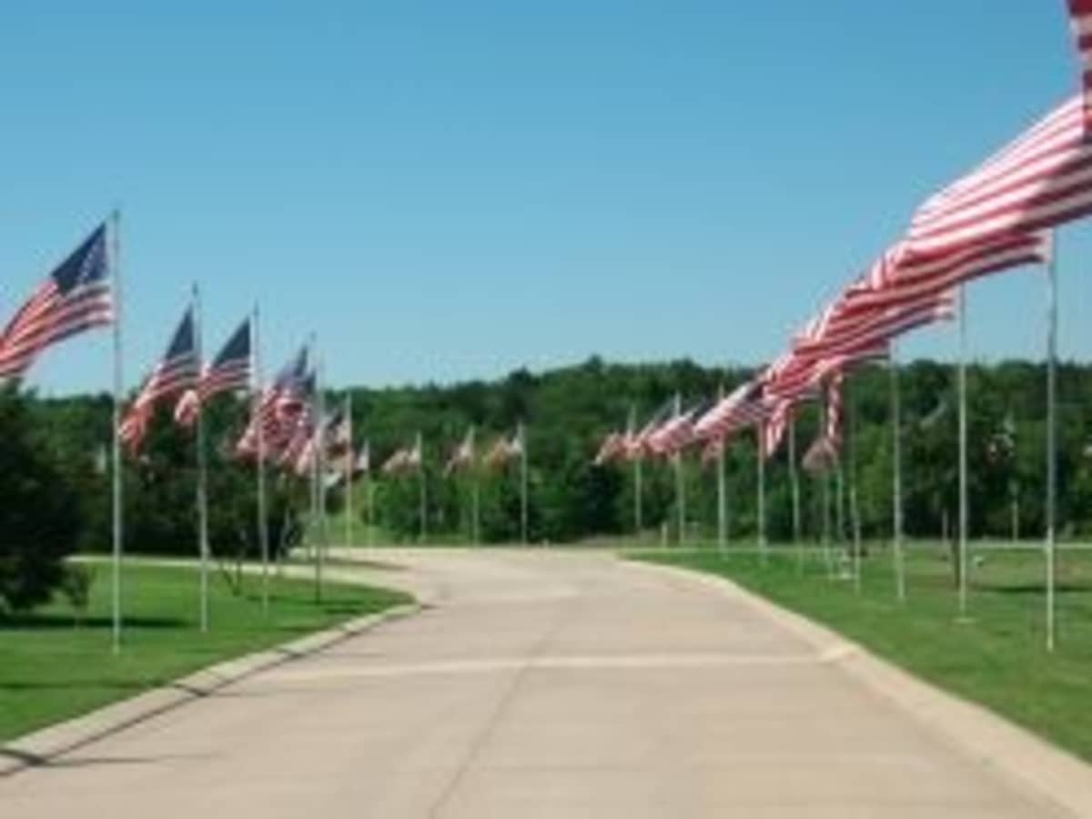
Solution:
[[[222,574],[210,583],[211,629],[198,629],[198,573],[188,568],[126,567],[123,648],[111,652],[109,567],[97,565],[88,616],[54,603],[0,618],[0,740],[162,686],[222,660],[286,642],[354,617],[408,603],[401,592],[327,583],[322,603],[309,581],[274,578],[270,612],[260,580],[238,593]]]

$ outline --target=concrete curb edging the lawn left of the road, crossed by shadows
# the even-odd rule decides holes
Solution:
[[[423,610],[420,604],[403,604],[377,614],[358,617],[340,626],[292,640],[272,649],[226,660],[202,668],[161,688],[153,688],[127,700],[20,737],[0,746],[0,778],[28,768],[47,765],[57,757],[82,748],[159,714],[216,691],[259,672],[316,654],[343,640],[380,625],[403,619]]]

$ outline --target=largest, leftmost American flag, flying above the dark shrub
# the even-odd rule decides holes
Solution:
[[[60,263],[0,333],[0,379],[19,379],[46,347],[114,320],[106,225]]]

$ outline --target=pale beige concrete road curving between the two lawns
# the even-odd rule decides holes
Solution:
[[[405,559],[427,612],[0,780],[0,816],[1060,816],[709,589]]]

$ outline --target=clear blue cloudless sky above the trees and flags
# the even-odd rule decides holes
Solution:
[[[259,298],[270,365],[316,330],[334,383],[759,363],[1077,85],[1063,0],[43,1],[0,28],[0,311],[121,203],[130,383],[193,280],[210,348]],[[1090,251],[1065,230],[1067,357]],[[970,304],[975,355],[1040,355],[1037,273]],[[105,387],[106,339],[32,382]]]

